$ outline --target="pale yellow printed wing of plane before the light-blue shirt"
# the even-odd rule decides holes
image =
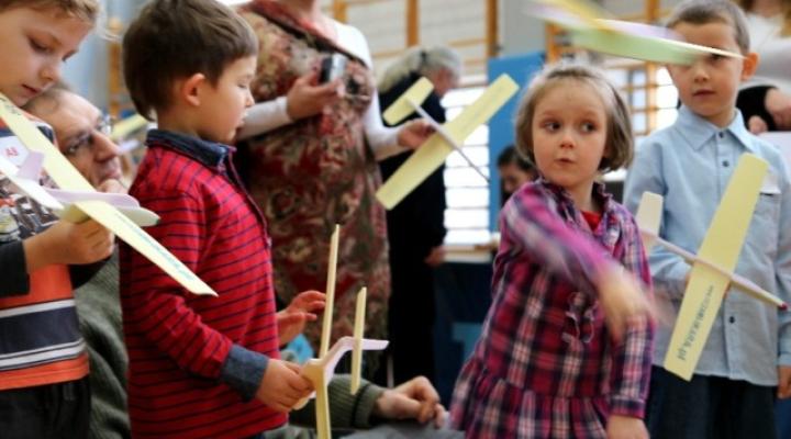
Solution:
[[[698,257],[733,272],[747,236],[768,164],[745,154],[714,213]],[[698,364],[731,278],[695,262],[681,302],[665,369],[689,381]]]

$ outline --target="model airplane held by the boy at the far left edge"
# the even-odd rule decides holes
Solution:
[[[179,261],[170,251],[163,247],[156,239],[145,233],[135,221],[146,224],[155,221],[151,212],[136,210],[137,214],[132,214],[131,210],[124,207],[130,216],[122,213],[116,205],[115,199],[109,199],[107,195],[94,195],[97,191],[75,169],[74,166],[60,154],[60,151],[47,139],[38,128],[25,117],[22,112],[3,94],[0,94],[0,117],[5,121],[8,127],[16,135],[22,144],[27,148],[27,154],[33,154],[33,158],[27,158],[23,162],[24,167],[21,175],[12,165],[8,167],[10,161],[4,161],[5,170],[0,170],[9,179],[14,181],[22,191],[27,193],[34,200],[43,205],[60,204],[68,209],[62,210],[62,215],[67,221],[81,222],[91,217],[99,224],[112,230],[115,236],[124,240],[132,248],[148,258],[157,267],[163,269],[174,280],[179,282],[185,289],[194,294],[216,293],[192,271]],[[35,155],[38,155],[37,157]],[[60,192],[48,192],[37,185],[36,180],[31,180],[34,176],[35,168],[41,168],[41,162],[46,173],[55,181]],[[31,184],[33,183],[33,184]],[[21,184],[21,185],[20,185]],[[60,200],[58,200],[58,198]],[[53,200],[54,199],[54,200]],[[53,203],[54,202],[54,203]],[[129,200],[121,201],[129,202]],[[56,205],[57,205],[56,204]],[[55,209],[58,210],[57,207]],[[148,212],[148,213],[146,213]]]

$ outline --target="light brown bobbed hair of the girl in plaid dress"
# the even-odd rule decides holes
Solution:
[[[608,115],[605,157],[599,170],[606,172],[632,162],[634,140],[628,108],[621,93],[600,70],[581,64],[556,64],[544,68],[531,82],[516,112],[516,149],[535,164],[533,154],[533,117],[538,102],[554,88],[566,81],[577,81],[595,90],[604,103]]]

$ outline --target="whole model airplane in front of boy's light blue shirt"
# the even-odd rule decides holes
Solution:
[[[742,155],[697,256],[658,237],[661,198],[650,193],[643,195],[637,222],[646,248],[650,248],[654,243],[659,244],[679,254],[692,264],[689,283],[665,357],[665,369],[683,380],[689,381],[692,378],[714,318],[731,284],[773,306],[782,309],[788,307],[780,299],[733,272],[747,236],[768,166],[765,160],[754,155]]]

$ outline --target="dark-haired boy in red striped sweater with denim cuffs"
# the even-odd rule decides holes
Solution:
[[[123,38],[130,94],[159,127],[130,194],[160,215],[148,232],[220,294],[192,295],[121,248],[134,437],[250,437],[311,392],[279,360],[266,223],[225,145],[253,104],[256,54],[250,27],[215,0],[154,0]]]

